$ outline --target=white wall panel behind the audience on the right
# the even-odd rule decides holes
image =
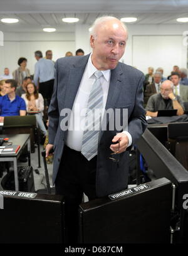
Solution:
[[[167,77],[174,65],[186,67],[186,58],[182,48],[182,36],[133,36],[132,58],[133,66],[144,73],[148,67],[164,68]]]

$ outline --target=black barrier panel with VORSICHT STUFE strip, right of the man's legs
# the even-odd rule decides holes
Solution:
[[[82,203],[80,242],[170,243],[172,184],[166,178],[146,184],[137,193],[120,193],[125,196],[117,200]]]

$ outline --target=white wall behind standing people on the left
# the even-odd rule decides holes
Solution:
[[[4,46],[0,47],[0,74],[4,67],[12,73],[18,68],[18,59],[23,56],[28,60],[28,68],[34,73],[34,51],[40,50],[45,56],[46,50],[53,51],[53,60],[65,56],[66,51],[75,52],[75,33],[6,33]]]

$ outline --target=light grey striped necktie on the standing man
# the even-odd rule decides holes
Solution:
[[[98,137],[100,132],[101,115],[94,115],[95,109],[103,107],[103,90],[100,78],[103,73],[97,70],[94,73],[96,80],[92,85],[91,92],[88,98],[88,106],[85,118],[85,131],[83,131],[83,139],[81,146],[81,154],[90,161],[97,155]],[[95,117],[95,118],[94,118]]]

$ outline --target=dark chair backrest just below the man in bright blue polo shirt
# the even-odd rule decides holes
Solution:
[[[36,126],[35,115],[13,115],[10,117],[4,117],[4,126],[23,127],[31,125]]]

